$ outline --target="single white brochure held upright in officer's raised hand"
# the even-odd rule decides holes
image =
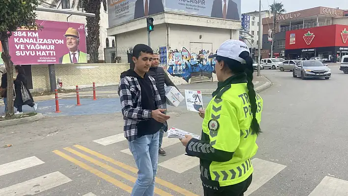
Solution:
[[[200,90],[185,90],[186,107],[188,111],[200,112],[203,109],[203,98]]]

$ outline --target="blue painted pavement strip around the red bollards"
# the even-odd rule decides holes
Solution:
[[[211,97],[203,96],[203,106],[206,107]],[[2,100],[1,100],[2,101]],[[80,99],[81,106],[76,106],[76,99],[59,99],[60,113],[55,113],[56,102],[55,100],[38,101],[37,111],[44,115],[49,116],[61,116],[61,115],[93,115],[93,114],[105,114],[121,112],[121,105],[119,98],[100,98],[95,101],[92,99]],[[171,110],[187,110],[186,103],[181,104],[175,108],[168,106],[168,111]],[[0,107],[0,113],[4,111],[4,107]],[[17,109],[15,108],[15,111]],[[23,112],[33,112],[33,109],[29,106],[23,106]]]

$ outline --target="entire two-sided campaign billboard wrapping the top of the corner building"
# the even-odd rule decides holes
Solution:
[[[240,20],[240,4],[241,0],[108,0],[109,28],[164,11]]]

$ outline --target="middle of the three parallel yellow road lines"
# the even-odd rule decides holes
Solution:
[[[70,152],[70,153],[72,153],[72,154],[74,154],[74,155],[76,155],[76,156],[79,156],[79,157],[85,159],[86,161],[89,161],[90,163],[92,163],[92,164],[94,164],[96,166],[100,166],[100,167],[102,167],[102,168],[104,168],[104,169],[106,169],[108,171],[111,171],[111,172],[115,173],[116,175],[119,175],[122,178],[127,179],[127,180],[129,180],[131,182],[135,182],[137,180],[137,178],[135,178],[135,177],[133,177],[131,175],[128,175],[128,174],[126,174],[126,173],[124,173],[124,172],[122,172],[122,171],[120,171],[120,170],[118,170],[116,168],[113,168],[113,167],[111,167],[111,166],[109,166],[107,164],[104,164],[104,163],[102,163],[102,162],[100,162],[98,160],[95,160],[95,159],[93,159],[93,158],[91,158],[91,157],[89,157],[87,155],[84,155],[81,152],[78,152],[78,151],[76,151],[74,149],[71,149],[69,147],[66,147],[66,148],[63,148],[63,149],[68,151],[68,152]],[[158,189],[156,187],[155,187],[155,193],[160,195],[160,196],[173,196],[173,195],[171,195],[171,194],[169,194],[169,193],[167,193],[167,192],[165,192],[165,191],[163,191],[161,189]]]

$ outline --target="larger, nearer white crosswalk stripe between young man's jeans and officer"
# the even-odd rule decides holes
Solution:
[[[176,156],[165,162],[158,164],[163,168],[170,169],[172,171],[182,173],[188,169],[194,168],[200,165],[200,159],[197,157],[190,157],[185,154]]]

